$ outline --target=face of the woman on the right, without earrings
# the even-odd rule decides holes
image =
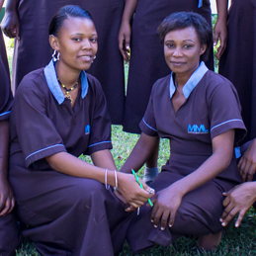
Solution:
[[[171,31],[164,39],[166,63],[177,74],[191,75],[198,68],[200,56],[206,49],[207,45],[201,45],[193,27]]]

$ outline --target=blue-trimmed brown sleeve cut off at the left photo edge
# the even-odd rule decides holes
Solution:
[[[0,121],[9,120],[12,104],[10,76],[0,55]]]

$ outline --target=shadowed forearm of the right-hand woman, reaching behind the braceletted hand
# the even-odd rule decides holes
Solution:
[[[121,169],[121,172],[130,173],[131,169],[138,171],[151,155],[153,148],[157,146],[158,136],[151,137],[141,133],[136,145],[132,149],[128,160]]]

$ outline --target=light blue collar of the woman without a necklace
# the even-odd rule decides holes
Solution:
[[[197,84],[200,82],[200,80],[203,78],[203,76],[206,74],[208,70],[209,69],[206,66],[205,62],[202,61],[199,67],[194,71],[190,79],[182,88],[182,92],[186,99],[189,98],[193,89],[197,86]],[[172,72],[170,76],[170,98],[172,98],[175,91],[176,91],[176,86],[174,85],[173,72]]]

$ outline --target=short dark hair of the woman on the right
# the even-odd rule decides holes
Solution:
[[[199,37],[201,45],[207,44],[207,50],[201,55],[201,60],[207,61],[213,43],[213,31],[207,20],[194,12],[173,13],[166,17],[157,29],[161,43],[164,43],[165,36],[176,30],[193,27]]]

